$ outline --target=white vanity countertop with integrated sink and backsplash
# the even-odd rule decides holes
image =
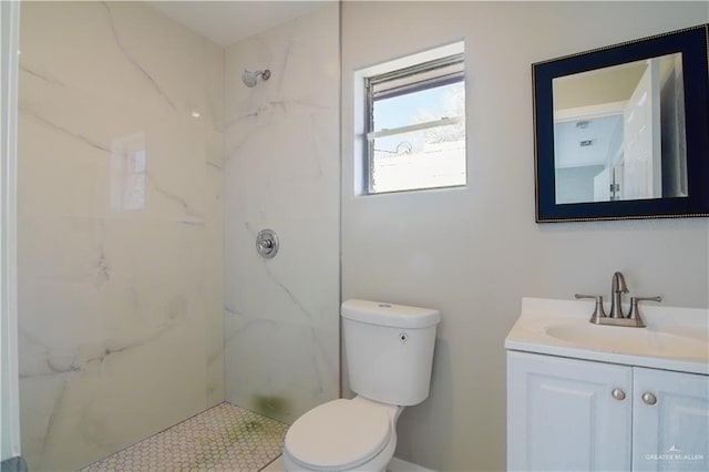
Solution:
[[[523,298],[505,349],[709,374],[709,309],[640,305],[646,328],[594,325],[593,310],[594,301]]]

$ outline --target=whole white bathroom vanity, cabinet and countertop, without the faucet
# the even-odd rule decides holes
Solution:
[[[709,310],[524,298],[507,338],[507,470],[709,470]]]

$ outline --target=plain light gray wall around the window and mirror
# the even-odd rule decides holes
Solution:
[[[635,294],[706,307],[705,218],[534,222],[533,62],[706,22],[692,2],[345,2],[342,298],[440,308],[430,398],[397,455],[436,470],[505,468],[504,338],[524,296]],[[465,188],[356,197],[354,70],[465,39]]]

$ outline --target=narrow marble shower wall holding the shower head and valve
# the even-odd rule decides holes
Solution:
[[[226,398],[286,422],[339,393],[339,6],[225,55]],[[270,69],[254,89],[244,69]],[[256,253],[263,228],[280,252]]]

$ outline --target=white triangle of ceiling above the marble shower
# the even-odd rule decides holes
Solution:
[[[147,1],[165,16],[227,47],[333,0]]]

